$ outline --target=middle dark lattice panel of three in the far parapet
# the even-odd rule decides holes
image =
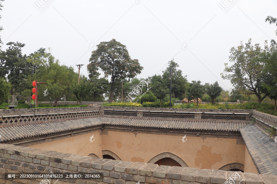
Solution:
[[[194,119],[195,114],[188,112],[143,112],[143,117]]]

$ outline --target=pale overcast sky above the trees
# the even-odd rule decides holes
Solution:
[[[277,17],[274,0],[6,0],[0,25],[6,43],[26,44],[23,54],[52,48],[61,64],[84,64],[96,45],[116,39],[130,57],[144,67],[138,78],[162,74],[172,58],[189,82],[218,81],[230,90],[220,73],[229,52],[240,41],[252,44],[276,39],[275,25],[264,20]]]

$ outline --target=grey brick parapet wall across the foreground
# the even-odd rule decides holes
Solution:
[[[158,166],[157,164],[126,162],[110,159],[91,158],[55,151],[46,151],[8,144],[0,144],[0,183],[34,184],[40,180],[3,179],[4,173],[103,173],[103,181],[70,179],[55,184],[223,184],[234,171],[196,169],[190,167]],[[276,184],[277,176],[238,172],[235,183]],[[52,180],[54,183],[55,180]]]

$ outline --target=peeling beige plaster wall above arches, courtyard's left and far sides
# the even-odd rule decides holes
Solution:
[[[234,162],[244,164],[245,145],[236,144],[236,139],[207,137],[203,140],[201,135],[187,134],[187,141],[183,143],[181,139],[186,133],[182,136],[135,133],[108,131],[108,135],[99,135],[96,131],[29,147],[84,156],[94,153],[99,158],[102,150],[110,150],[123,161],[144,163],[160,153],[170,152],[189,167],[198,169],[219,169]],[[92,135],[95,140],[90,143]]]

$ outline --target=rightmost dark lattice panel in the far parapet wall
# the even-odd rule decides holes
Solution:
[[[246,114],[202,113],[201,119],[209,120],[246,120]]]

